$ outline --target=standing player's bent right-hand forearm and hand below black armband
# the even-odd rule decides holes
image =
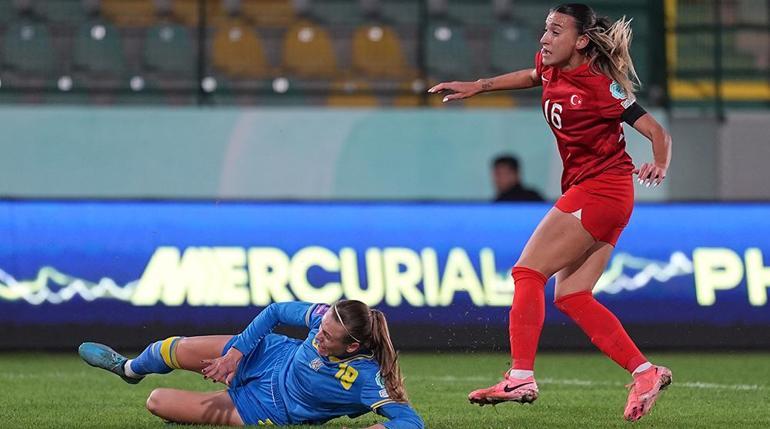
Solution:
[[[635,171],[639,183],[658,186],[666,178],[671,164],[671,135],[649,113],[637,119],[633,127],[652,143],[653,162],[645,162]]]

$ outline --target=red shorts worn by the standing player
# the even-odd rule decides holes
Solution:
[[[555,206],[580,219],[597,241],[614,246],[634,211],[633,176],[603,174],[586,179],[567,189]]]

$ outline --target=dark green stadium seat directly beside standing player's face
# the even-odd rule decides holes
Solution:
[[[532,29],[513,23],[496,26],[490,41],[490,71],[508,73],[535,66],[540,48]]]

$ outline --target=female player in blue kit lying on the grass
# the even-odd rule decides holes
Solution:
[[[310,333],[304,341],[270,333],[279,324]],[[407,402],[385,315],[360,301],[271,304],[238,335],[171,337],[134,359],[97,343],[83,343],[79,353],[132,384],[186,369],[228,385],[219,392],[153,390],[147,408],[172,422],[322,424],[372,411],[389,419],[373,428],[424,427]]]

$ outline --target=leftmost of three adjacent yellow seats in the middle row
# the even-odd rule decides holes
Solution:
[[[214,66],[232,77],[264,78],[270,74],[262,40],[243,19],[220,25],[212,50]]]

